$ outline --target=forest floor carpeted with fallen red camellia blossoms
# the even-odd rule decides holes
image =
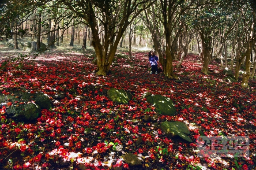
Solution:
[[[237,83],[227,83],[216,61],[209,66],[213,73],[204,75],[199,57],[189,54],[179,69],[174,61],[180,83],[162,73],[149,74],[148,52],[133,52],[130,61],[117,58],[119,66],[110,67],[111,74],[97,76],[94,52],[72,48],[44,52],[34,60],[3,67],[4,56],[17,57],[18,52],[0,46],[0,92],[4,95],[24,87],[27,92],[44,92],[54,107],[42,110],[42,116],[30,123],[8,118],[0,107],[0,169],[256,169],[256,79],[249,80],[248,89],[241,87],[241,75]],[[111,102],[104,93],[111,88],[131,92],[132,100],[128,104]],[[177,115],[156,113],[142,99],[145,92],[170,97]],[[64,98],[54,99],[60,93]],[[202,107],[209,111],[201,111]],[[145,115],[158,119],[145,122]],[[186,123],[193,142],[166,137],[159,130],[164,121]],[[84,133],[87,128],[92,128],[90,133]],[[250,156],[198,157],[199,130],[208,137],[221,136],[220,132],[249,136]],[[143,142],[136,144],[139,137]],[[126,153],[136,154],[143,165],[128,167],[122,161]]]

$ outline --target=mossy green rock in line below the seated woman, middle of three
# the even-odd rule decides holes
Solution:
[[[154,105],[156,112],[161,113],[162,115],[176,115],[176,108],[174,107],[173,100],[171,100],[169,97],[162,95],[151,95],[146,99],[147,102]]]

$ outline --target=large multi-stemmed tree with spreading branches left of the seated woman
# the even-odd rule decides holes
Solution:
[[[98,75],[106,75],[112,64],[117,46],[124,31],[156,0],[56,0],[62,7],[83,18],[92,32],[92,45],[97,57]],[[99,35],[99,26],[104,29],[104,43]]]

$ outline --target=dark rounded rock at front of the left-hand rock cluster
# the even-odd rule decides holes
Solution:
[[[41,116],[41,109],[35,103],[12,105],[6,114],[18,121],[33,121]]]

